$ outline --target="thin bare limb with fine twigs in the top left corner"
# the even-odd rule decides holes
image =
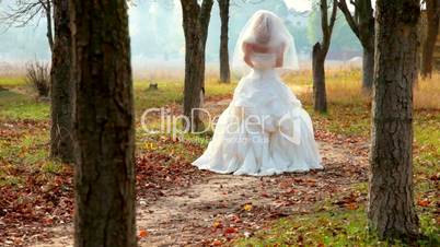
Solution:
[[[49,43],[50,51],[54,50],[54,35],[53,35],[53,1],[51,0],[14,0],[14,4],[4,11],[1,17],[2,22],[9,27],[24,27],[38,16],[46,17],[46,37]]]

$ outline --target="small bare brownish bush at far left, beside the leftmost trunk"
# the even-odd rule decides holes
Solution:
[[[50,70],[49,64],[39,61],[26,64],[26,83],[30,84],[40,97],[49,96]]]

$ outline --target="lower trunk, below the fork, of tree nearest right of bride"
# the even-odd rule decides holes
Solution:
[[[313,46],[313,101],[314,109],[320,113],[327,111],[327,96],[325,92],[325,57],[320,43]]]

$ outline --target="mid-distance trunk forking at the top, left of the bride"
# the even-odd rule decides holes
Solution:
[[[205,47],[213,0],[181,0],[185,33],[184,115],[190,131],[204,129],[200,108],[205,92]]]

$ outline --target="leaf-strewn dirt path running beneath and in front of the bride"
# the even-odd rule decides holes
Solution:
[[[270,220],[322,210],[329,198],[343,201],[352,185],[367,179],[366,156],[327,142],[320,142],[320,150],[324,170],[263,178],[207,173],[204,181],[163,190],[164,196],[150,203],[141,198],[137,225],[146,236],[140,246],[224,243],[250,235]],[[34,246],[72,246],[71,224],[47,231],[54,238]]]

